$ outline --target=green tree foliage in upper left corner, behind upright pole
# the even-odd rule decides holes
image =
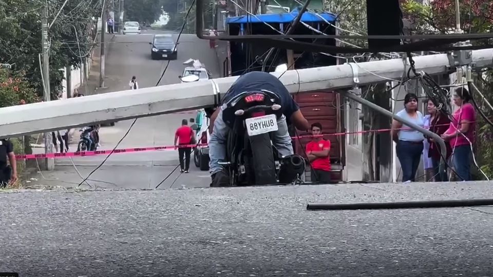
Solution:
[[[63,0],[48,2],[48,24],[61,10]],[[68,1],[49,29],[50,88],[56,95],[62,89],[62,68],[81,65],[93,47],[91,26],[99,17],[99,0]],[[25,72],[31,86],[43,94],[40,70],[42,0],[0,1],[0,63],[13,64],[14,72]],[[76,31],[77,30],[77,31]],[[76,34],[77,32],[77,34]]]

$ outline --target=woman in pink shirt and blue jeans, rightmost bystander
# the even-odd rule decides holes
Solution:
[[[471,181],[471,145],[476,136],[476,111],[469,100],[467,89],[460,87],[454,91],[453,103],[459,109],[453,113],[450,127],[442,135],[452,148],[452,164],[463,181]]]

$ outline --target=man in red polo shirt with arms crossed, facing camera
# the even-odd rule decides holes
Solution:
[[[307,157],[311,164],[311,180],[313,183],[330,183],[330,141],[322,137],[322,125],[312,124],[313,140],[307,144]]]

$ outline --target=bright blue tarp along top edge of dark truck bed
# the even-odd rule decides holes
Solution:
[[[335,21],[336,15],[330,12],[319,12],[321,17],[323,17],[326,21],[333,23]],[[255,16],[252,15],[242,15],[242,16],[234,16],[234,17],[226,17],[226,24],[244,24],[244,23],[290,23],[293,19],[298,15],[298,9],[293,10],[292,12],[286,13],[266,13],[266,14],[257,14]],[[323,22],[322,18],[316,15],[313,12],[306,11],[301,15],[302,22]]]

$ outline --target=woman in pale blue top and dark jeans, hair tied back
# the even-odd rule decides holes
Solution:
[[[423,114],[418,110],[418,96],[408,93],[404,97],[404,109],[396,114],[408,121],[424,127]],[[414,182],[423,152],[424,135],[393,120],[392,140],[397,144],[395,150],[401,163],[402,182]]]

